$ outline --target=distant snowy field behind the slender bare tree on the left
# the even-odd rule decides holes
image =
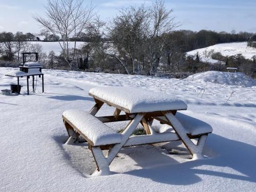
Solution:
[[[44,41],[29,41],[31,44],[39,44],[42,46],[42,51],[48,54],[50,51],[54,51],[56,55],[59,55],[61,53],[61,47],[59,45],[59,42],[44,42]],[[80,48],[84,42],[78,41],[76,42],[76,47]],[[69,42],[69,47],[74,48],[75,43]]]

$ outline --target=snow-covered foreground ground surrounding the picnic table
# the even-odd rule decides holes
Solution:
[[[1,90],[16,82],[4,76],[10,70],[0,68]],[[27,96],[23,78],[22,95],[0,95],[0,191],[255,191],[255,80],[224,72],[184,80],[43,72],[44,94],[39,80],[37,93]],[[139,87],[183,99],[188,110],[182,113],[214,129],[204,148],[208,158],[191,161],[180,142],[126,147],[110,166],[115,174],[91,178],[96,165],[87,144],[63,145],[68,135],[61,115],[68,109],[89,111],[94,102],[88,92],[97,86]],[[99,112],[111,115],[114,109],[104,105]],[[109,125],[120,130],[125,124]]]

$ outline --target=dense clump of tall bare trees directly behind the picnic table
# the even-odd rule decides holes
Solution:
[[[178,26],[172,11],[165,8],[163,0],[155,0],[151,7],[142,4],[120,9],[108,28],[113,46],[105,54],[119,60],[127,73],[125,63],[132,63],[133,73],[137,66],[139,73],[140,65],[144,69],[145,62],[148,72],[155,73],[166,45],[165,34]],[[125,57],[129,60],[124,63]]]

